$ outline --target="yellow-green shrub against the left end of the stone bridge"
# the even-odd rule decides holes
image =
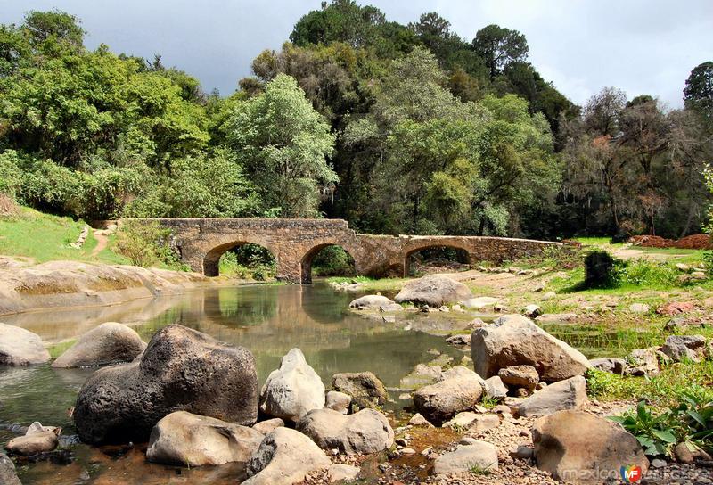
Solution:
[[[170,229],[155,222],[126,220],[119,228],[116,248],[134,266],[164,265],[186,270],[170,247]]]

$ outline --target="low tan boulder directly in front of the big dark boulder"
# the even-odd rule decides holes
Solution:
[[[146,458],[184,466],[247,464],[263,438],[262,433],[240,424],[176,411],[153,427]]]

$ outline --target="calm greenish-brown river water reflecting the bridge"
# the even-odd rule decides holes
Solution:
[[[134,326],[144,341],[161,327],[186,325],[220,341],[250,349],[257,362],[260,385],[288,350],[298,347],[328,386],[332,374],[372,371],[388,386],[413,367],[433,358],[438,349],[460,358],[442,337],[403,330],[348,312],[355,293],[335,292],[326,284],[255,285],[202,289],[177,297],[135,300],[105,308],[77,308],[4,316],[4,323],[39,334],[46,342],[61,342],[103,322]],[[12,423],[40,421],[74,434],[68,409],[79,388],[95,369],[53,369],[45,366],[0,368],[0,442],[16,436]],[[397,395],[397,392],[395,393]],[[230,466],[181,470],[146,464],[134,449],[69,446],[70,463],[20,463],[20,480],[31,484],[235,483]],[[56,456],[55,456],[55,460]]]

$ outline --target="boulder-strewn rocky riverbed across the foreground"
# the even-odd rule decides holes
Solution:
[[[589,399],[584,377],[594,366],[653,375],[667,358],[710,358],[705,339],[671,338],[626,359],[589,360],[537,325],[537,312],[494,313],[486,323],[471,318],[473,308],[498,303],[476,301],[442,278],[414,286],[395,299],[414,307],[381,295],[351,306],[409,328],[457,314],[450,325],[471,330],[449,339],[460,357],[424,352],[398,387],[387,387],[366,361],[361,372],[323,380],[300,349],[286,352],[260,387],[249,349],[183,325],[144,342],[128,327],[105,324],[53,361],[57,368],[101,366],[71,410],[78,436],[33,423],[5,433],[13,438],[4,448],[24,470],[76,477],[61,483],[162,483],[170,476],[251,484],[601,483],[618,482],[621,466],[638,466],[649,483],[713,482],[702,451],[690,463],[683,456],[650,462],[632,435],[605,419],[635,403]],[[426,295],[433,307],[422,306],[424,292],[433,293]],[[0,333],[6,365],[29,371],[50,359],[37,335],[12,325]],[[106,366],[118,361],[127,363]],[[76,440],[92,445],[81,448],[94,455],[84,463],[102,464],[102,473],[76,468]],[[0,477],[13,483],[12,461],[0,458]]]

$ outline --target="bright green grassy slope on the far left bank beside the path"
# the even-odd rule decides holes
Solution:
[[[0,254],[31,258],[37,263],[64,259],[127,264],[127,259],[111,251],[111,244],[96,257],[92,251],[97,241],[89,232],[84,246],[72,248],[85,222],[43,214],[37,210],[20,208],[20,215],[0,218]]]

